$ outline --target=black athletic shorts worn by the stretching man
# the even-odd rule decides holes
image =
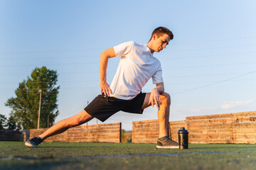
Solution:
[[[146,94],[142,94],[141,92],[135,98],[132,98],[132,100],[122,100],[119,98],[99,95],[85,108],[85,111],[102,122],[118,111],[142,114],[142,105],[145,96]]]

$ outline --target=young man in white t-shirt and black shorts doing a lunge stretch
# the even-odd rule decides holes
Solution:
[[[83,111],[73,117],[61,120],[38,137],[28,140],[25,145],[36,147],[47,137],[57,135],[68,128],[82,125],[92,118],[104,122],[118,111],[142,114],[144,108],[156,105],[159,117],[159,139],[157,148],[178,148],[178,143],[169,139],[169,108],[171,98],[164,92],[161,64],[153,57],[174,38],[164,27],[156,28],[146,45],[124,42],[105,50],[100,55],[100,91]],[[107,62],[111,57],[121,57],[112,84],[107,84]],[[156,88],[151,93],[142,93],[142,87],[152,78]]]

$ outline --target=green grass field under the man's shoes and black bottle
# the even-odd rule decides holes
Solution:
[[[256,145],[0,142],[0,169],[255,169]]]

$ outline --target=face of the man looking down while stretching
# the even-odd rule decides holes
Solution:
[[[159,37],[157,37],[157,35],[154,35],[153,38],[153,50],[155,52],[160,52],[161,50],[163,50],[166,47],[166,45],[169,44],[170,41],[169,35],[167,34],[160,35]]]

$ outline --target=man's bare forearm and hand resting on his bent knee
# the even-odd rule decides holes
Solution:
[[[161,98],[159,94],[164,92],[164,83],[157,83],[156,88],[152,89],[151,94],[149,96],[149,103],[154,107],[154,103],[156,104],[156,108],[159,108],[161,105]]]

